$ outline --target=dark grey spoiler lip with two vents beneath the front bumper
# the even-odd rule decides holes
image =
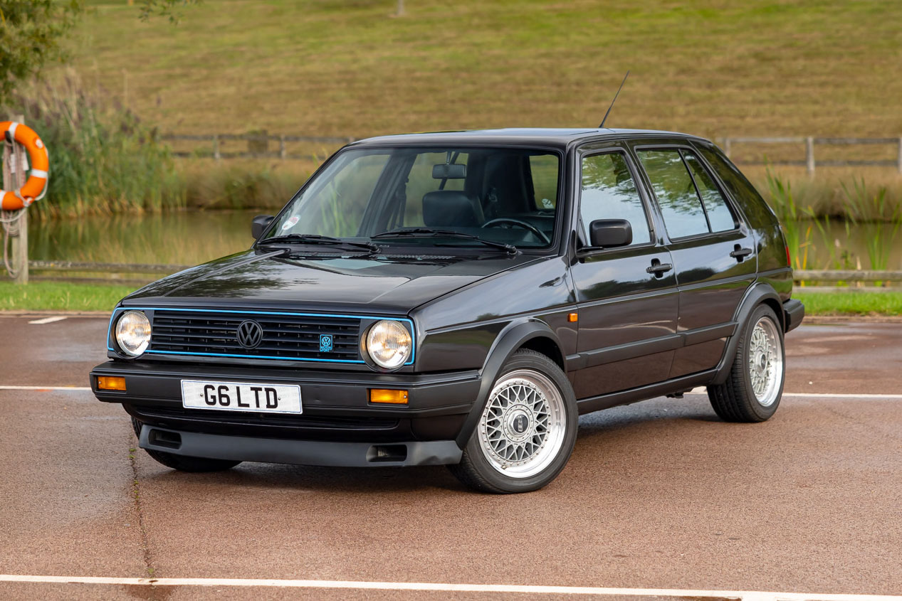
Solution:
[[[178,442],[173,442],[175,439]],[[293,465],[345,468],[401,467],[459,463],[463,451],[454,441],[332,442],[294,441],[251,436],[179,432],[143,424],[139,446],[188,457],[217,460],[261,461]],[[378,448],[404,448],[403,459],[381,459]]]

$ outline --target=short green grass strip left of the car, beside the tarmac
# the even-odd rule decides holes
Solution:
[[[0,282],[0,310],[113,311],[130,286],[32,282],[27,286]]]

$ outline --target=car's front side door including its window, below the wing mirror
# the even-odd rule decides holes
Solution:
[[[578,246],[588,246],[595,219],[626,219],[633,234],[628,246],[577,250],[571,268],[582,368],[575,372],[574,390],[577,398],[587,398],[667,379],[680,340],[670,253],[628,151],[585,150],[577,159]]]

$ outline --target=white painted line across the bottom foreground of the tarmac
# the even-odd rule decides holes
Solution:
[[[366,580],[280,580],[267,578],[105,578],[95,576],[27,576],[0,574],[0,582],[132,585],[145,587],[281,587],[345,588],[358,590],[428,590],[474,593],[530,593],[534,595],[618,595],[730,597],[745,601],[902,601],[893,595],[837,595],[771,593],[750,590],[691,590],[679,588],[548,587],[449,582],[370,582]]]

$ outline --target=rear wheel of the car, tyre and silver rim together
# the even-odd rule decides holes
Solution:
[[[726,422],[763,422],[777,411],[783,396],[783,328],[768,305],[759,305],[738,335],[730,374],[723,384],[708,387],[708,398]]]

